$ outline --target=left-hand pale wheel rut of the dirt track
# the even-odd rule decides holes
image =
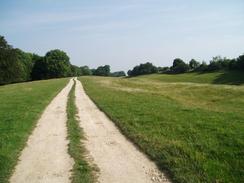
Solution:
[[[66,104],[71,79],[44,110],[21,153],[11,183],[68,183],[73,159],[68,154]]]

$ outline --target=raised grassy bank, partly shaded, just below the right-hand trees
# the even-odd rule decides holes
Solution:
[[[191,83],[209,83],[209,84],[244,84],[243,71],[222,71],[210,73],[184,73],[184,74],[152,74],[149,76],[140,76],[134,79],[149,79],[163,82],[191,82]]]

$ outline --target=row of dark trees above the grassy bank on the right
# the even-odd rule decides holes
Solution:
[[[171,67],[156,67],[152,63],[147,62],[135,66],[127,72],[128,76],[138,76],[152,73],[180,74],[185,72],[213,72],[220,70],[242,70],[244,71],[244,54],[238,58],[228,59],[220,56],[213,57],[209,64],[206,62],[198,62],[191,59],[189,63],[184,62],[180,58],[173,61]]]

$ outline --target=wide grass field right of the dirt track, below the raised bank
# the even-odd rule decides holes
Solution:
[[[96,104],[173,182],[242,182],[244,87],[151,77],[79,79]]]

